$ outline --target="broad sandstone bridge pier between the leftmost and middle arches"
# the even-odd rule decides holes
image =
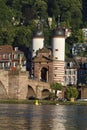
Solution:
[[[9,98],[26,99],[27,96],[28,73],[9,74]]]

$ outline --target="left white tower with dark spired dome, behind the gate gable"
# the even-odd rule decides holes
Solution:
[[[34,32],[32,40],[32,58],[36,56],[36,52],[44,47],[44,34],[41,29],[41,23],[38,22],[37,29]]]

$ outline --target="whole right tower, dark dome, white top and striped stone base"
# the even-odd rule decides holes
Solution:
[[[53,81],[64,85],[65,29],[58,27],[53,31]]]

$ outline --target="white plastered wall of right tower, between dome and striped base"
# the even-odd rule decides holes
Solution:
[[[65,38],[54,37],[53,38],[53,57],[56,60],[65,60]]]

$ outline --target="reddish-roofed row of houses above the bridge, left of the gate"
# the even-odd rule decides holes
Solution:
[[[18,47],[11,45],[0,46],[0,69],[16,69],[19,65],[26,69],[26,59],[24,53]]]

